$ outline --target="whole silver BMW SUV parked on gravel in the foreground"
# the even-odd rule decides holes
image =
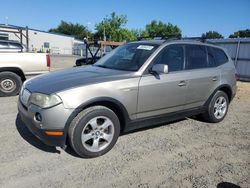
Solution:
[[[236,92],[235,67],[206,43],[138,41],[90,66],[26,81],[18,109],[44,143],[81,157],[108,152],[118,136],[142,126],[202,114],[220,122]]]

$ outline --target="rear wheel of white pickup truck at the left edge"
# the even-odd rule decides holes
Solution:
[[[15,96],[19,94],[22,87],[22,79],[13,72],[0,73],[0,96]]]

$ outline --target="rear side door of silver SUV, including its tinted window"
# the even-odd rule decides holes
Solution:
[[[220,82],[220,71],[210,48],[205,45],[185,45],[189,72],[185,109],[202,106]]]

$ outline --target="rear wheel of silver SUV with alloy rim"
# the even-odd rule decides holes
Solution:
[[[207,111],[202,114],[202,117],[210,123],[218,123],[222,121],[228,111],[229,100],[228,96],[223,91],[217,91],[210,100]]]

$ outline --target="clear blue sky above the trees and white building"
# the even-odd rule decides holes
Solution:
[[[5,0],[0,23],[8,17],[9,24],[47,31],[64,20],[94,31],[113,11],[127,15],[127,28],[144,28],[156,19],[178,25],[183,36],[215,30],[227,37],[250,28],[250,0]]]

